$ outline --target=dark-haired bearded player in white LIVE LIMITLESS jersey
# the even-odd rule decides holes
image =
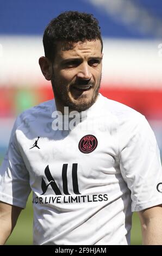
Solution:
[[[39,64],[55,100],[15,121],[1,167],[1,244],[32,190],[35,245],[129,245],[133,211],[143,243],[161,245],[159,149],[142,114],[98,93],[98,21],[62,13],[45,29],[43,46]]]

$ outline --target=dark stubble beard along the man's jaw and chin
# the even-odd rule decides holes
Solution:
[[[97,100],[97,96],[98,96],[98,92],[99,92],[99,88],[100,88],[100,84],[101,84],[101,77],[99,79],[98,86],[95,88],[95,90],[93,92],[91,100],[86,102],[86,101],[84,101],[84,97],[83,97],[82,103],[72,102],[70,97],[68,96],[67,87],[62,88],[61,86],[59,86],[59,84],[57,84],[57,82],[55,81],[54,76],[52,76],[52,78],[51,78],[51,83],[52,83],[52,89],[53,89],[55,99],[57,99],[59,102],[61,102],[61,104],[64,107],[69,107],[70,111],[81,112],[81,111],[85,111],[86,109],[90,108]]]

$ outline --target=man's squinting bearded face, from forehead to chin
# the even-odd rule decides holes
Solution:
[[[57,45],[52,88],[59,107],[84,111],[97,99],[102,72],[101,41]]]

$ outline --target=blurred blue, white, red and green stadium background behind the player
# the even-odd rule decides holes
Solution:
[[[94,14],[104,40],[101,92],[146,116],[162,154],[162,2],[159,0],[0,0],[0,159],[16,115],[52,99],[38,59],[47,23],[61,11]],[[32,243],[32,196],[7,244]],[[141,244],[133,215],[132,244]]]

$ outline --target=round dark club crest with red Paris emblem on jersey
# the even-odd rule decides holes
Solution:
[[[89,154],[97,147],[97,139],[94,135],[85,135],[79,141],[79,150],[84,154]]]

